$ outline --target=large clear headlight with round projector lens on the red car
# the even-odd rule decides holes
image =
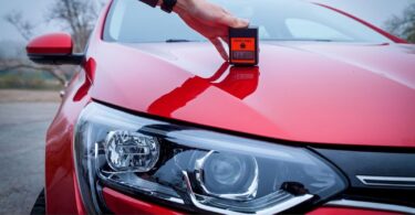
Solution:
[[[98,104],[82,112],[74,154],[89,213],[102,187],[191,212],[274,214],[346,187],[329,163],[287,147],[137,117]]]

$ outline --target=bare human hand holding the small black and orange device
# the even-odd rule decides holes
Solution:
[[[220,40],[228,43],[229,28],[248,28],[249,21],[230,14],[207,0],[177,0],[174,11],[195,31],[208,39],[228,61],[228,53]]]

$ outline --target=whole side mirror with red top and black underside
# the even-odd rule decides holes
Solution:
[[[29,58],[38,64],[80,65],[84,54],[73,54],[72,36],[66,33],[53,33],[35,37],[27,46]]]

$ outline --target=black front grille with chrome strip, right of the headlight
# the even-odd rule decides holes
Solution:
[[[415,208],[415,151],[312,148],[336,165],[350,187],[339,200],[383,203]],[[415,211],[414,211],[415,212]]]

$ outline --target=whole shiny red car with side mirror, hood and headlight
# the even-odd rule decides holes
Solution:
[[[230,66],[174,14],[113,0],[46,137],[48,214],[415,213],[415,46],[322,4],[215,0],[259,28]]]

